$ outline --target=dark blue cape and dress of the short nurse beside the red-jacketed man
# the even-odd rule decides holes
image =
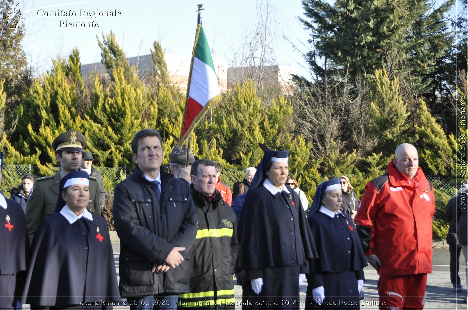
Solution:
[[[314,272],[307,276],[306,308],[359,308],[363,297],[359,296],[357,280],[364,280],[367,261],[353,220],[347,214],[330,217],[320,211],[307,220],[319,258],[313,261]],[[320,286],[325,291],[322,305],[314,303],[312,297],[312,289]]]

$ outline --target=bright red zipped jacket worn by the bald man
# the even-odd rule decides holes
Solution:
[[[376,254],[379,275],[432,272],[432,184],[418,167],[409,180],[393,162],[388,174],[367,183],[356,215],[356,229],[366,255]]]

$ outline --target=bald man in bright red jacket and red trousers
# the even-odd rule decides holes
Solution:
[[[400,144],[388,173],[367,183],[356,215],[367,262],[380,275],[380,309],[424,308],[434,211],[434,191],[418,167],[416,148]]]

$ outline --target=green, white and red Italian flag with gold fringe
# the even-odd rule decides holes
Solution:
[[[216,77],[214,70],[210,48],[208,47],[205,31],[203,31],[202,25],[198,24],[190,65],[187,102],[183,111],[179,145],[183,145],[183,142],[188,138],[198,121],[219,100],[221,100],[221,91],[218,77]]]

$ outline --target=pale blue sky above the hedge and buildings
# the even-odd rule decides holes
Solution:
[[[149,54],[154,40],[160,40],[166,53],[190,55],[197,24],[197,4],[203,3],[203,27],[213,57],[226,58],[230,63],[239,63],[250,49],[245,43],[256,35],[257,8],[267,1],[237,0],[180,0],[180,1],[35,1],[19,3],[25,17],[26,37],[24,49],[30,63],[38,73],[51,66],[57,56],[67,56],[78,47],[81,63],[101,60],[96,35],[115,33],[117,42],[128,57]],[[300,75],[310,77],[304,68],[301,52],[307,52],[308,34],[297,20],[303,16],[300,0],[270,0],[268,17],[271,47],[267,59],[273,63],[297,68]],[[69,12],[76,16],[47,16],[46,12]],[[117,17],[87,16],[96,11],[121,12]],[[84,12],[84,16],[83,16]],[[265,12],[265,10],[263,10]],[[81,15],[81,16],[80,16]],[[99,27],[69,28],[63,22],[98,22]],[[62,26],[62,27],[60,27]],[[287,40],[285,39],[287,38]],[[290,42],[296,44],[292,47]],[[305,45],[304,45],[305,44]]]

